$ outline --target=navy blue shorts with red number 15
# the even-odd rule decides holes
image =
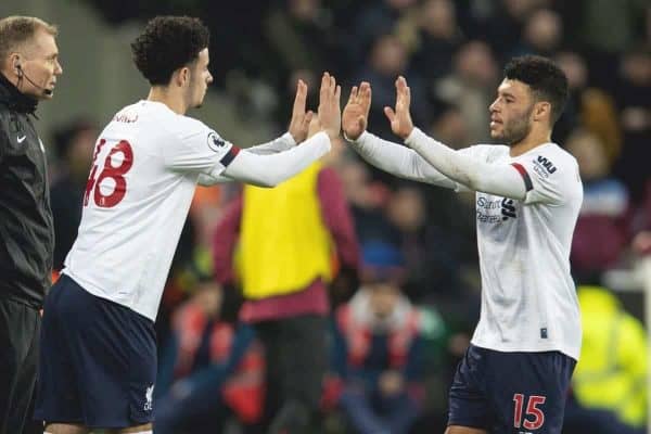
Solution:
[[[492,434],[560,434],[576,361],[560,353],[471,345],[450,387],[448,425]]]

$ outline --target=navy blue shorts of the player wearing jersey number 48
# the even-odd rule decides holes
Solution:
[[[63,275],[43,309],[35,418],[123,429],[153,420],[154,323]]]

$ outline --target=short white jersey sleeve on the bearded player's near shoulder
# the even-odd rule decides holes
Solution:
[[[525,204],[562,204],[580,189],[578,165],[554,153],[534,153],[511,164],[522,176],[526,189]]]

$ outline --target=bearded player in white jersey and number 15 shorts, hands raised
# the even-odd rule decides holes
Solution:
[[[398,177],[475,192],[482,311],[446,434],[560,433],[582,336],[569,257],[583,187],[574,157],[551,142],[567,79],[545,58],[513,59],[489,106],[490,136],[505,144],[459,151],[413,126],[403,77],[396,90],[384,111],[408,148],[366,131],[367,82],[343,113],[353,148]]]

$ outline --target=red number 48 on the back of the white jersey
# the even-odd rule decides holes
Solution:
[[[102,171],[100,171],[100,175],[95,178],[98,171],[98,165],[95,162],[104,144],[106,144],[106,140],[101,139],[98,143],[94,155],[92,156],[92,169],[90,170],[90,176],[88,177],[88,182],[86,183],[84,206],[88,206],[90,193],[92,193],[95,205],[102,208],[111,208],[117,205],[123,199],[125,199],[125,194],[127,194],[127,180],[125,179],[125,175],[133,165],[133,150],[131,149],[131,144],[126,140],[120,140],[119,143],[113,146],[104,159]],[[112,165],[113,156],[117,153],[123,154],[123,161],[119,166],[114,167]],[[115,183],[111,194],[104,194],[100,189],[100,184],[104,179],[112,179]]]

